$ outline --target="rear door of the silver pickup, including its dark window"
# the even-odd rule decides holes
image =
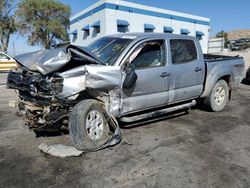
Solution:
[[[201,49],[189,39],[170,39],[169,103],[198,97],[203,90],[205,64]],[[203,55],[203,54],[201,54]]]

